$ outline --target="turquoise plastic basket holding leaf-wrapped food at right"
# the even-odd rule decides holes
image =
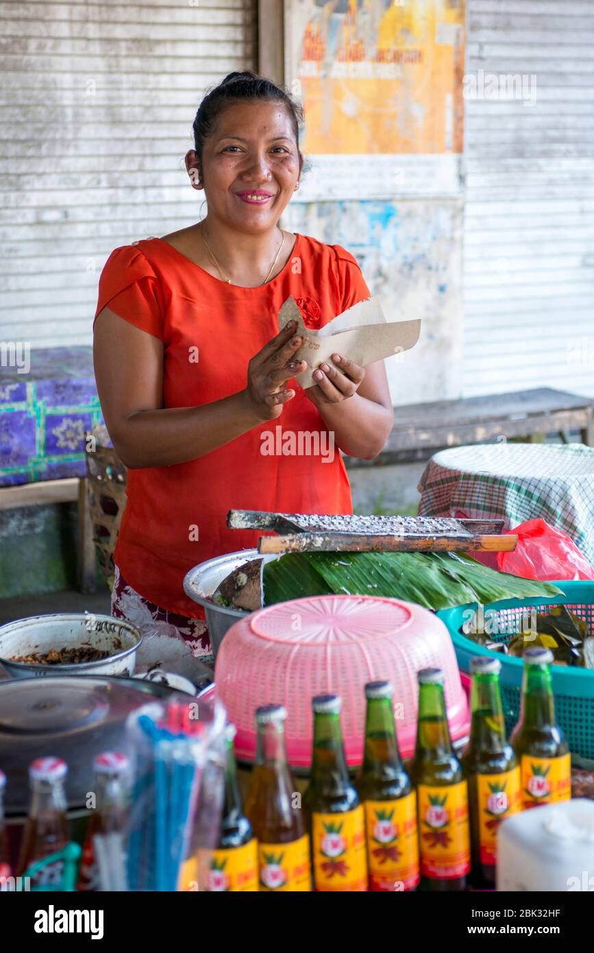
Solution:
[[[497,626],[491,639],[508,642],[520,631],[523,615],[535,609],[546,613],[556,605],[564,605],[569,612],[580,616],[587,623],[588,635],[594,635],[594,582],[555,582],[564,596],[553,598],[501,599],[485,605],[486,613],[492,613],[488,621]],[[524,662],[511,659],[477,645],[462,632],[462,626],[476,611],[478,603],[459,605],[454,609],[442,609],[437,616],[446,623],[454,643],[456,658],[461,670],[470,671],[470,659],[477,655],[496,656],[501,660],[500,677],[502,701],[505,712],[505,727],[511,732],[520,716],[520,695]],[[485,621],[487,619],[485,618]],[[572,754],[586,760],[594,760],[594,669],[570,668],[565,665],[551,666],[555,712],[561,724]]]

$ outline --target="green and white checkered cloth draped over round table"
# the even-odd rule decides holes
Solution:
[[[435,454],[419,483],[420,517],[541,517],[594,565],[594,448],[582,443],[485,443]]]

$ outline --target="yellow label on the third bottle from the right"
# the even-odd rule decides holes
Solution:
[[[470,870],[468,786],[419,784],[421,873],[432,880],[465,877]]]

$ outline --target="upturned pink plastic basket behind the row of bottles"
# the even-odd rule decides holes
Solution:
[[[453,740],[468,734],[468,706],[446,626],[433,613],[399,599],[320,596],[281,602],[235,622],[221,643],[215,690],[237,728],[235,749],[253,760],[254,711],[287,708],[287,754],[295,767],[311,761],[314,695],[343,700],[347,762],[361,764],[367,681],[390,679],[400,749],[414,751],[417,672],[444,670],[447,717]]]

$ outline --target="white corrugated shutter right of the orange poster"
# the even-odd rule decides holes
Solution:
[[[469,0],[466,75],[536,103],[465,101],[464,394],[594,395],[594,0]],[[518,87],[518,89],[520,89]]]

